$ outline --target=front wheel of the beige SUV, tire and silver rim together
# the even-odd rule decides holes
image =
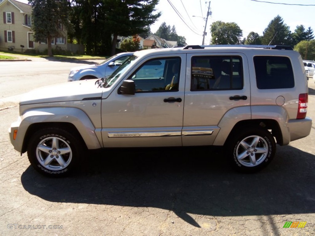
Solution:
[[[60,128],[46,128],[32,135],[27,155],[31,166],[39,173],[61,177],[75,169],[82,147],[71,133]]]

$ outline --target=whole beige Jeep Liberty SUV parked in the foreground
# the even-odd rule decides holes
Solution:
[[[305,70],[291,47],[148,49],[108,78],[26,93],[9,137],[53,177],[74,170],[86,149],[123,147],[222,146],[213,158],[254,172],[272,161],[276,143],[309,135],[307,104]]]

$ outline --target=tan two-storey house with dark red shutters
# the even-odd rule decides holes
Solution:
[[[15,0],[0,2],[0,50],[21,52],[28,49],[44,51],[48,48],[47,40],[34,42],[31,14],[32,7],[29,4]],[[60,37],[53,38],[52,48],[59,47],[72,51],[72,45],[67,45],[67,31],[61,24],[60,29],[62,34]]]

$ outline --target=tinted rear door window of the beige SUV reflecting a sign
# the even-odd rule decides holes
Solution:
[[[191,91],[243,88],[243,64],[239,56],[192,57]]]

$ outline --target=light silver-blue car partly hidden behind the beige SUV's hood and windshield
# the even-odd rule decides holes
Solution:
[[[118,53],[100,64],[74,67],[70,70],[68,81],[100,79],[110,76],[133,53]]]

